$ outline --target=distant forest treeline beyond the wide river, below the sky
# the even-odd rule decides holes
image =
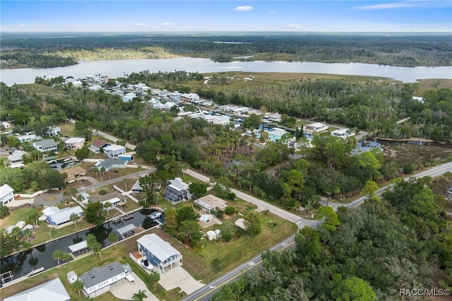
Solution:
[[[170,54],[192,54],[215,61],[232,61],[237,56],[267,54],[264,59],[268,60],[360,62],[392,66],[452,64],[451,36],[447,34],[2,33],[1,41],[3,67],[67,66],[76,64],[80,59],[158,58],[168,57]],[[283,54],[283,58],[278,58],[278,54]]]

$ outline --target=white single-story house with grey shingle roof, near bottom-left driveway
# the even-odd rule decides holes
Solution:
[[[126,270],[117,261],[107,266],[99,266],[91,269],[78,277],[83,283],[83,290],[89,297],[97,297],[110,290],[110,285],[126,278]]]

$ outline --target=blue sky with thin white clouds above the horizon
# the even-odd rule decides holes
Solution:
[[[8,1],[2,32],[452,32],[451,0]]]

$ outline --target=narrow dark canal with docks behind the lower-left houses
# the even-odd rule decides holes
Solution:
[[[115,224],[112,223],[112,221],[109,221],[108,223],[105,223],[98,227],[90,228],[89,230],[81,230],[80,232],[71,234],[69,236],[61,237],[58,240],[33,247],[28,251],[23,251],[11,256],[7,256],[1,259],[0,271],[1,273],[11,271],[14,279],[17,279],[19,277],[26,276],[31,271],[35,271],[41,267],[43,267],[44,270],[53,268],[54,266],[58,265],[58,261],[52,258],[52,253],[56,249],[60,249],[64,252],[71,252],[69,246],[86,240],[88,234],[94,234],[97,241],[102,244],[102,247],[107,247],[110,244],[108,235],[118,228],[133,224],[136,227],[141,226],[145,229],[149,229],[157,225],[157,223],[153,222],[150,218],[147,217],[147,215],[150,213],[151,211],[147,209],[135,211],[133,213],[129,213],[131,216],[133,216],[133,218],[129,220],[123,220],[121,223]],[[8,281],[5,282],[7,283]]]

